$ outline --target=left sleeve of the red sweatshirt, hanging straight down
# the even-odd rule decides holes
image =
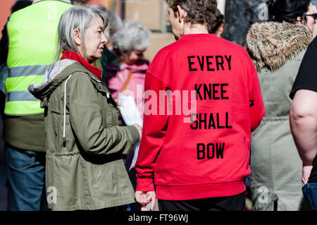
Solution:
[[[166,91],[168,85],[163,81],[147,73],[145,78],[144,93],[144,118],[142,140],[135,169],[137,170],[137,189],[139,191],[154,190],[154,168],[156,159],[163,146],[168,116],[160,111],[159,91]],[[147,99],[147,95],[151,95]]]

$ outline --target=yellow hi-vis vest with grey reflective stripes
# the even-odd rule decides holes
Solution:
[[[39,1],[12,14],[7,28],[9,73],[4,114],[27,116],[44,112],[27,87],[44,80],[56,52],[59,20],[71,6],[63,1]]]

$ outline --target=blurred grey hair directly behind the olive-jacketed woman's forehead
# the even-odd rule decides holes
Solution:
[[[99,4],[99,5],[94,5],[92,6],[93,8],[99,8],[101,11],[103,11],[104,13],[106,13],[106,16],[108,18],[109,21],[109,32],[106,33],[106,38],[108,39],[109,42],[113,42],[113,35],[122,28],[123,26],[123,22],[120,19],[119,16],[116,15],[116,13],[114,13],[113,11],[109,10],[108,8],[106,8],[105,6]]]

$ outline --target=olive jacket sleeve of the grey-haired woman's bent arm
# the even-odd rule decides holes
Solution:
[[[87,75],[74,75],[67,87],[70,126],[83,150],[87,154],[128,153],[132,145],[139,140],[137,128],[104,128],[103,117],[106,115],[101,109],[97,90]]]

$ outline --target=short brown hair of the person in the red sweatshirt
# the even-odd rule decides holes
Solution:
[[[166,2],[174,12],[178,11],[178,6],[187,12],[186,23],[206,24],[208,30],[211,30],[211,21],[215,20],[217,0],[166,0]]]

